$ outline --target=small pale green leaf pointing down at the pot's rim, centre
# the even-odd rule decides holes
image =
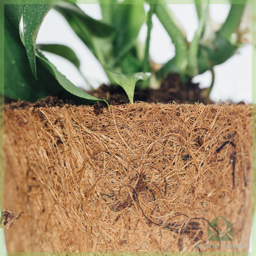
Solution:
[[[147,80],[151,73],[138,72],[130,75],[124,75],[122,73],[114,73],[106,70],[108,76],[110,76],[116,84],[119,84],[126,92],[131,104],[133,104],[135,84],[138,80]]]

